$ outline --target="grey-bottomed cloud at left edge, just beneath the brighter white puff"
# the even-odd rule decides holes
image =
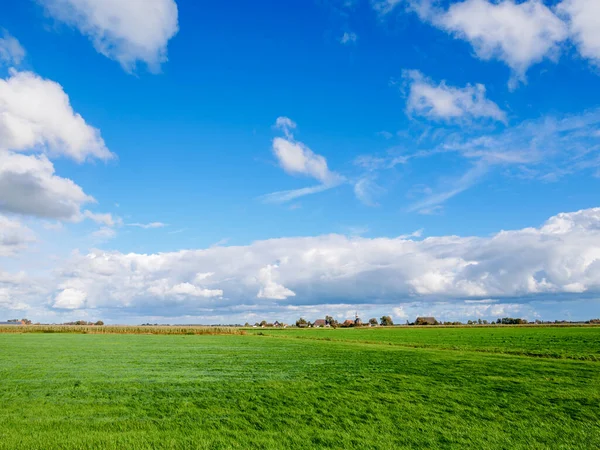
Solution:
[[[45,155],[0,151],[0,211],[75,221],[91,202],[73,181],[54,174]]]

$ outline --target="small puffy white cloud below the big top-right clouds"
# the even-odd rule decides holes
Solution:
[[[486,98],[485,86],[468,84],[464,88],[435,84],[417,70],[405,72],[409,80],[406,109],[433,120],[492,119],[506,123],[506,114]]]

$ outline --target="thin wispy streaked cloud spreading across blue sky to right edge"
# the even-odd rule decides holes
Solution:
[[[432,183],[424,190],[413,188],[407,193],[413,201],[408,210],[436,214],[442,203],[481,182],[487,174],[502,171],[504,177],[554,182],[567,175],[598,173],[599,128],[599,109],[577,115],[548,115],[502,129],[464,127],[455,133],[437,127],[425,139],[423,135],[406,136],[406,148],[417,141],[420,148],[416,151],[363,155],[355,159],[355,165],[366,171],[361,178],[377,176],[385,181],[382,171],[396,164],[422,158],[458,158],[460,166],[466,164],[469,169],[461,174],[457,165],[440,166],[444,173],[437,186]],[[419,197],[421,200],[414,200]]]

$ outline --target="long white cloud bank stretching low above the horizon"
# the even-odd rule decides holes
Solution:
[[[94,250],[75,254],[57,277],[59,293],[74,289],[66,298],[80,299],[59,305],[85,299],[88,308],[163,316],[273,300],[286,308],[598,295],[600,208],[483,238],[325,235],[158,254]]]

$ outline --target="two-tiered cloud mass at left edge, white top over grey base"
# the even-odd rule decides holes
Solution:
[[[9,70],[0,79],[0,212],[120,224],[110,214],[81,212],[95,200],[55,174],[49,157],[60,156],[79,163],[114,157],[100,132],[73,111],[58,83]]]

